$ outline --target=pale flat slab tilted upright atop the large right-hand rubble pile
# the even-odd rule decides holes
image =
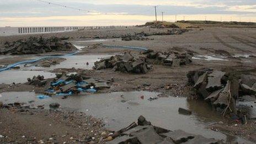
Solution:
[[[214,71],[208,74],[208,83],[206,89],[209,91],[213,91],[216,89],[220,89],[222,87],[221,79],[225,75],[225,72]]]

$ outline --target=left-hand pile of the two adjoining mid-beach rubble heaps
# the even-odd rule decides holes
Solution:
[[[151,66],[147,64],[147,58],[142,55],[132,55],[125,52],[124,55],[115,55],[103,58],[94,63],[95,70],[104,68],[113,68],[114,71],[129,73],[147,73],[151,70]]]

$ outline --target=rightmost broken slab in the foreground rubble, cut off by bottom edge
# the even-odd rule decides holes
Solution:
[[[206,138],[204,136],[196,135],[194,138],[184,142],[184,144],[212,144],[212,143],[221,143],[219,140],[214,138]]]

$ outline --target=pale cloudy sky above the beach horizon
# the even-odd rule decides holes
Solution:
[[[177,20],[256,22],[256,0],[44,1],[0,0],[0,26],[137,25],[155,20],[154,6],[158,20],[163,12],[170,22],[175,15]]]

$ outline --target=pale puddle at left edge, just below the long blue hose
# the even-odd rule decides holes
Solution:
[[[0,84],[6,83],[25,83],[27,78],[34,76],[43,75],[45,78],[54,78],[55,74],[44,71],[20,71],[20,70],[9,70],[0,72]]]

